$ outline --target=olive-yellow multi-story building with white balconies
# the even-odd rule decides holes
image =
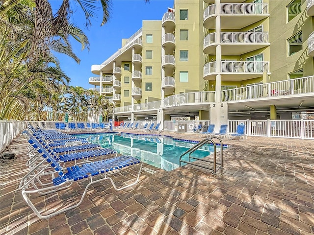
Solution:
[[[314,111],[314,0],[174,0],[90,84],[121,119],[291,119]],[[166,8],[166,6],[165,6]]]

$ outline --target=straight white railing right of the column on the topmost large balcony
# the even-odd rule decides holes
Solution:
[[[228,15],[268,14],[268,3],[221,3],[220,14]]]

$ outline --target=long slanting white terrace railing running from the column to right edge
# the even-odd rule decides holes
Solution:
[[[314,93],[314,76],[221,91],[222,101],[237,101]]]

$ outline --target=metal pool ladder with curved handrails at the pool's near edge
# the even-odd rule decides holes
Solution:
[[[213,141],[213,139],[218,139],[220,141],[220,163],[216,162],[216,143],[215,143],[215,141]],[[213,161],[209,161],[207,159],[197,158],[197,157],[191,156],[191,154],[193,152],[195,152],[197,149],[199,149],[200,147],[202,147],[204,144],[207,144],[207,143],[212,143],[213,146],[214,146]],[[186,154],[188,154],[188,161],[182,160],[182,157],[185,156]],[[191,159],[196,159],[196,160],[199,160],[199,161],[202,161],[202,162],[206,162],[206,163],[212,163],[213,167],[211,168],[211,167],[209,167],[207,165],[191,162]],[[180,166],[181,166],[181,163],[186,163],[186,164],[199,166],[199,167],[202,167],[202,168],[206,168],[206,169],[212,170],[213,173],[216,173],[216,164],[220,165],[221,168],[223,167],[223,144],[222,144],[222,140],[219,137],[213,136],[213,137],[206,138],[206,139],[198,142],[193,147],[191,147],[190,149],[185,151],[183,154],[181,154],[181,156],[180,156]]]

